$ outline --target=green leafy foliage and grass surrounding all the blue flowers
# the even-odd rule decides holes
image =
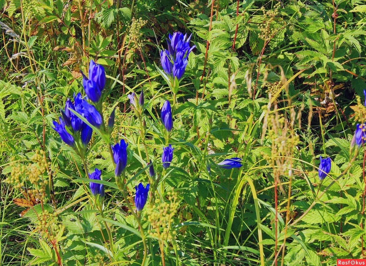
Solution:
[[[144,243],[145,265],[365,256],[365,148],[351,145],[366,119],[365,1],[277,2],[214,1],[211,16],[211,1],[0,0],[0,265],[141,265]],[[158,58],[178,30],[196,48],[171,88],[175,149],[163,170],[159,110],[173,95]],[[139,182],[158,183],[141,221],[116,185],[109,137],[94,128],[81,158],[52,129],[66,100],[85,95],[90,59],[107,73],[110,142],[128,142],[128,203]],[[140,120],[126,94],[142,90]],[[322,181],[319,155],[332,160]],[[243,166],[217,165],[231,157]],[[42,166],[44,194],[23,171]],[[101,206],[85,174],[94,168]],[[149,220],[159,206],[178,208]]]

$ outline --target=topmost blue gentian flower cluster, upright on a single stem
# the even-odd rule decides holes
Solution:
[[[173,35],[169,34],[168,50],[160,52],[161,66],[164,72],[172,75],[177,79],[182,78],[188,63],[189,53],[192,52],[195,45],[190,47],[189,42],[192,34],[187,38],[187,34],[175,32]]]

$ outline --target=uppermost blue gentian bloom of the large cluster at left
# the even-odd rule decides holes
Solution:
[[[102,95],[102,90],[105,86],[105,72],[103,66],[96,64],[90,60],[89,65],[89,79],[83,75],[83,87],[88,98],[97,103]]]

